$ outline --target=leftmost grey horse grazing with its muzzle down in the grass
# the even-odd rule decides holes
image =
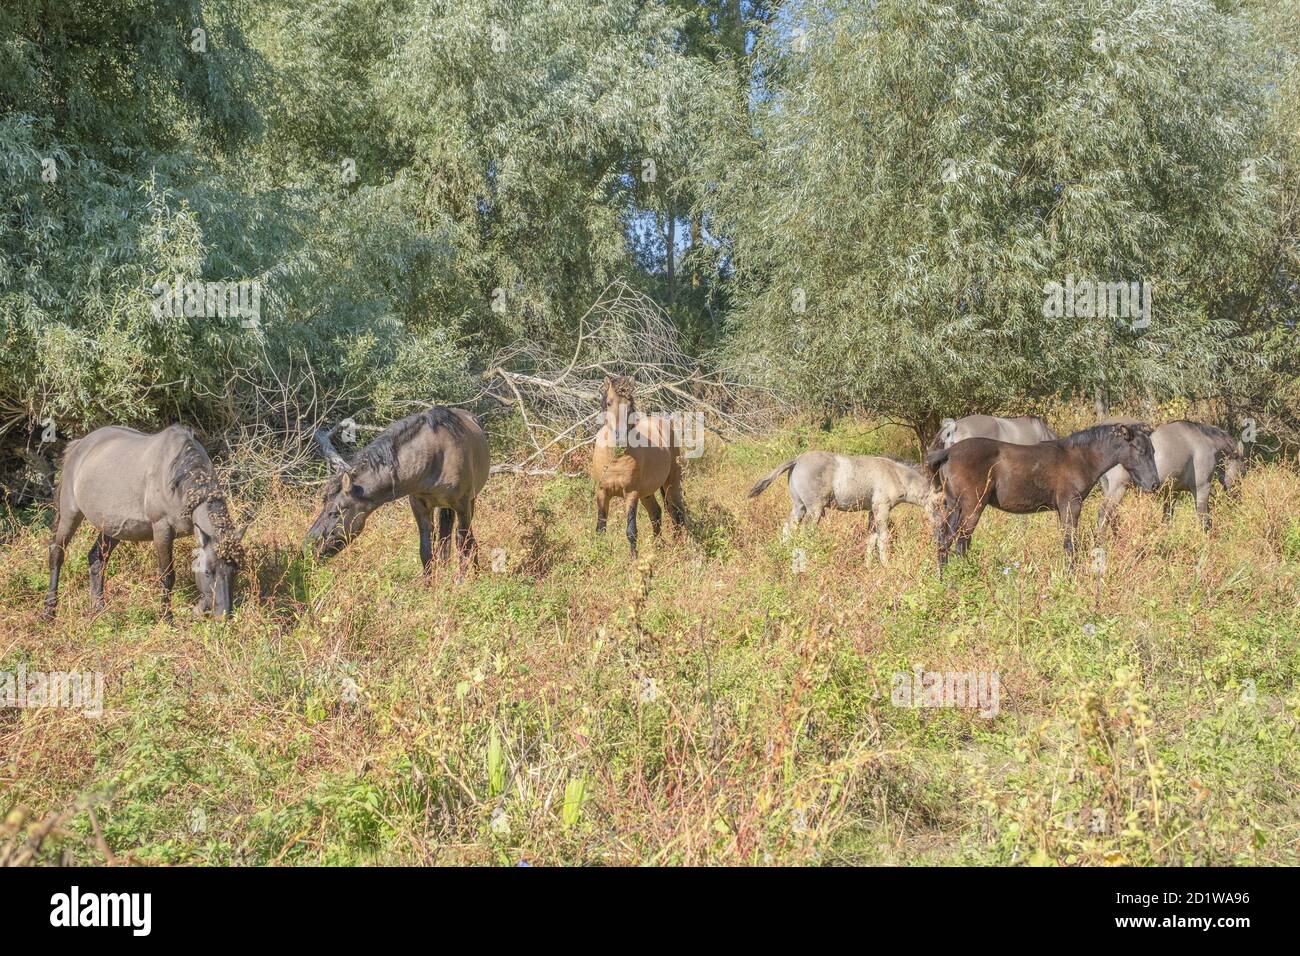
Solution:
[[[46,617],[58,607],[58,571],[68,542],[83,519],[99,529],[90,550],[90,593],[104,607],[104,568],[118,541],[152,541],[162,585],[162,615],[172,617],[176,568],[172,545],[195,535],[195,610],[230,613],[234,580],[243,558],[230,509],[217,484],[212,460],[188,428],[172,425],[157,434],[109,425],[68,445],[55,493],[53,537],[49,542],[49,592]]]

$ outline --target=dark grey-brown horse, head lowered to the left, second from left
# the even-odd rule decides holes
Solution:
[[[317,429],[316,441],[335,475],[321,492],[321,512],[307,532],[317,557],[343,550],[365,527],[374,509],[410,497],[420,528],[420,567],[433,564],[433,515],[438,514],[438,555],[451,555],[451,529],[462,559],[474,553],[469,523],[474,499],[488,483],[488,438],[478,420],[460,408],[436,405],[395,421],[348,463],[333,444],[333,431]]]

